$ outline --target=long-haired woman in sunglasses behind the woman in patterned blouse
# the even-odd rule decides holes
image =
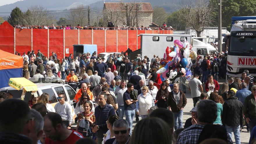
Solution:
[[[85,101],[89,101],[92,103],[93,105],[93,102],[90,100],[90,97],[88,96],[87,93],[82,93],[81,95],[81,98],[79,99],[79,101],[77,102],[77,105],[76,105],[76,108],[75,108],[75,113],[78,115],[79,113],[81,112],[84,112],[84,109],[83,109],[83,102]],[[94,113],[94,106],[92,106],[92,110],[91,112]]]

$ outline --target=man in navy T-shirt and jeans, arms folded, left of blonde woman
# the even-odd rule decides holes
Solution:
[[[127,83],[127,90],[123,95],[126,120],[129,123],[130,129],[132,129],[132,123],[135,116],[135,103],[138,101],[136,99],[131,99],[130,97],[130,93],[133,90],[134,90],[133,84]],[[130,131],[130,136],[131,136],[131,131]]]

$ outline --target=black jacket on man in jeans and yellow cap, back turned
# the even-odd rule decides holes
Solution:
[[[228,98],[223,105],[222,123],[230,127],[243,123],[243,103],[235,97]]]

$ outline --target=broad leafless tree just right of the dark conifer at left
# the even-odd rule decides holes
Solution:
[[[31,6],[22,17],[24,25],[39,26],[52,23],[52,15],[43,6]]]

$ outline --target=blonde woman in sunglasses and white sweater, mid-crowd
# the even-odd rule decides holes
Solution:
[[[138,102],[136,102],[137,115],[141,115],[141,118],[146,118],[149,109],[154,105],[154,99],[152,95],[148,93],[147,86],[143,86],[142,93],[138,95]]]

